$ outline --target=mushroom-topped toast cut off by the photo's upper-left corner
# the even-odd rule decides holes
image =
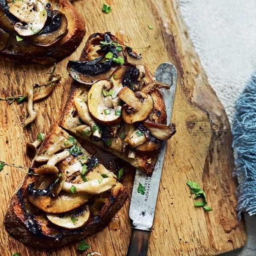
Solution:
[[[52,64],[69,56],[81,43],[85,34],[84,21],[69,0],[9,2],[0,1],[1,59],[22,64]],[[28,15],[20,11],[31,3],[37,7],[34,9],[41,8],[41,13],[31,11],[33,19],[37,17],[35,20],[24,18]]]

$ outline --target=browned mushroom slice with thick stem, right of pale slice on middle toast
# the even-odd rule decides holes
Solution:
[[[128,92],[130,92],[131,94],[134,93],[131,89],[129,89]],[[138,111],[136,111],[134,108],[132,108],[128,104],[122,106],[122,118],[126,123],[129,123],[129,124],[145,120],[148,117],[148,115],[151,113],[154,105],[153,99],[149,94],[145,94],[140,91],[137,91],[136,93],[137,93],[136,98],[138,97],[138,94],[140,94],[140,102],[141,102],[141,108]],[[129,102],[130,99],[134,99],[134,96],[131,96],[130,98],[123,97],[123,100],[126,100],[127,102]]]

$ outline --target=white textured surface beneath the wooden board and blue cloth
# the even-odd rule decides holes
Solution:
[[[178,3],[209,84],[232,125],[236,99],[256,71],[256,0],[178,0]],[[256,255],[256,217],[245,218],[247,244],[223,256]]]

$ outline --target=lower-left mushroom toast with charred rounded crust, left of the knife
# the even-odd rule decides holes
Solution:
[[[55,248],[102,230],[128,197],[116,175],[58,125],[29,172],[10,200],[4,225],[32,247]]]

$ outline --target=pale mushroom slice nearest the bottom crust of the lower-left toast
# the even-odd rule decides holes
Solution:
[[[64,227],[68,230],[76,230],[88,222],[90,218],[90,208],[89,206],[85,206],[82,209],[73,210],[71,212],[65,214],[46,214],[49,221],[53,224]]]

